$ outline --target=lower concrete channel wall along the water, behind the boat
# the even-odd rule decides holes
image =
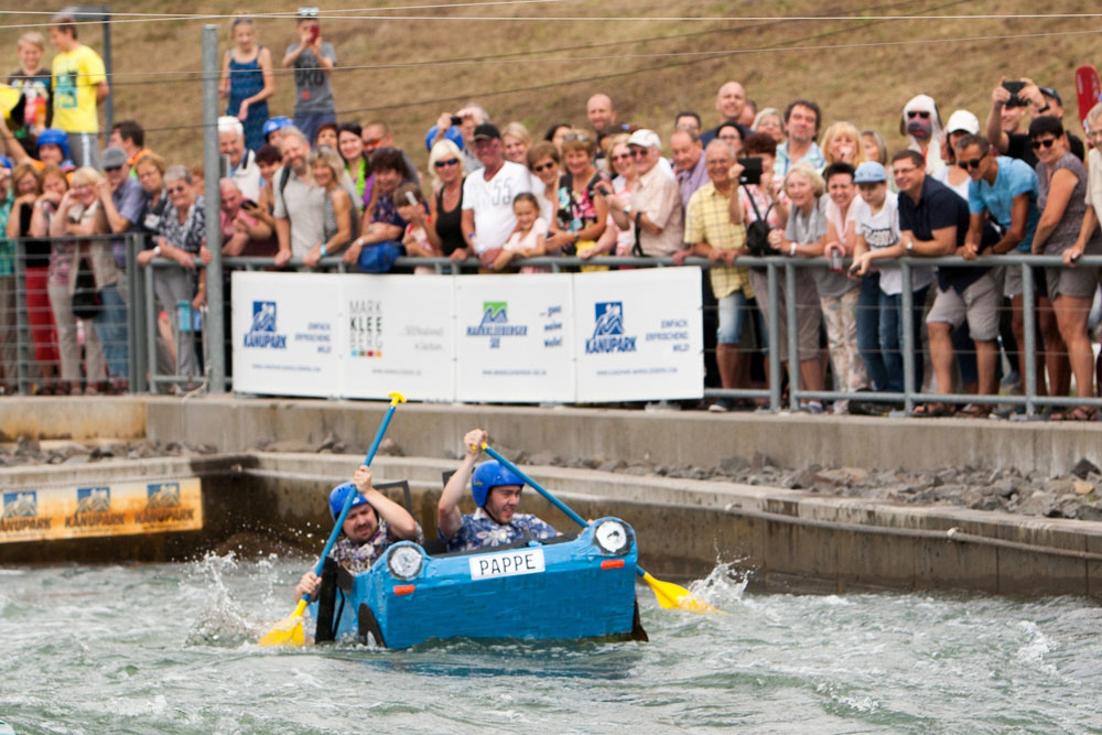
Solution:
[[[98,463],[79,471],[0,471],[6,487],[132,477],[204,476],[203,531],[118,539],[0,544],[0,563],[190,559],[206,551],[316,554],[328,532],[326,498],[360,457],[266,454]],[[378,482],[407,479],[412,511],[434,534],[444,460],[378,457]],[[734,483],[627,478],[588,469],[530,467],[583,518],[619,516],[637,533],[640,563],[659,577],[699,579],[734,562],[768,588],[969,590],[1102,598],[1102,523],[1023,518],[823,498]],[[391,497],[400,500],[397,493]],[[469,498],[465,499],[471,510]],[[560,530],[573,523],[533,490],[522,510]],[[957,529],[950,538],[948,531]],[[971,534],[961,537],[961,534]],[[954,540],[955,539],[955,540]],[[997,545],[1011,542],[1022,548]],[[1094,554],[1060,555],[1052,550]],[[304,566],[309,562],[304,562]]]

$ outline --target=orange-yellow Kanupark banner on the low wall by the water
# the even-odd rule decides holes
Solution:
[[[198,477],[6,489],[0,543],[203,528]]]

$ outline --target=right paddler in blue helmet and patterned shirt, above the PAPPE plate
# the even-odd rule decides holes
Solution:
[[[525,480],[496,461],[475,466],[482,445],[489,435],[472,429],[463,436],[466,455],[440,495],[436,527],[449,551],[471,551],[500,547],[523,539],[549,539],[559,536],[547,521],[531,514],[518,514],[520,490]],[[478,508],[471,515],[460,514],[458,502],[471,480],[471,495]]]

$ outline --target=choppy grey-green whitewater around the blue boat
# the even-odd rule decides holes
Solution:
[[[1102,608],[1080,598],[749,594],[650,642],[277,650],[306,562],[0,569],[17,733],[1102,732]],[[4,727],[0,725],[0,732]]]

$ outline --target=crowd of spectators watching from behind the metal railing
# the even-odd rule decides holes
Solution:
[[[522,261],[547,256],[670,257],[674,264],[703,257],[712,261],[702,288],[715,304],[716,382],[727,389],[761,387],[766,376],[748,358],[770,347],[769,279],[739,259],[825,258],[828,268],[796,269],[793,291],[780,279],[771,294],[786,365],[786,304],[795,302],[802,389],[832,381],[849,394],[900,392],[910,358],[916,387],[995,396],[1004,365],[1006,385],[1025,371],[1020,267],[916,264],[905,282],[896,259],[1059,255],[1063,267],[1031,271],[1037,391],[1067,396],[1073,378],[1079,396],[1095,394],[1102,361],[1095,365],[1088,320],[1099,269],[1078,260],[1102,255],[1102,105],[1085,120],[1088,147],[1065,127],[1057,89],[1030,79],[1000,80],[983,123],[969,110],[943,122],[936,101],[917,95],[901,106],[906,144],[894,151],[851,121],[827,125],[810,98],[759,108],[727,82],[715,116],[678,111],[665,142],[651,129],[660,126],[620,119],[613,98],[598,93],[576,120],[563,111],[565,120],[542,136],[517,121],[499,127],[472,102],[442,112],[423,151],[406,151],[381,120],[338,120],[337,54],[322,39],[316,9],[301,9],[294,30],[280,57],[293,69],[294,108],[272,116],[273,56],[249,19],[231,23],[218,119],[225,256],[270,259],[272,269],[338,257],[364,272],[390,271],[399,256],[449,258],[472,272],[539,272],[545,266]],[[156,258],[177,264],[154,273],[164,313],[159,366],[197,381],[202,356],[177,332],[206,299],[203,176],[147,149],[134,120],[115,123],[100,150],[97,105],[109,94],[102,62],[79,43],[72,18],[54,19],[50,42],[57,53],[46,72],[45,39],[20,39],[22,66],[9,79],[20,104],[0,131],[0,225],[9,238],[0,251],[0,388],[13,388],[14,238],[24,238],[39,390],[127,389],[126,310],[134,294],[125,273]],[[704,129],[707,117],[715,125]],[[150,236],[133,263],[121,239],[111,239],[130,230]],[[75,237],[44,239],[57,236]],[[79,239],[90,236],[101,237]],[[903,349],[904,288],[914,304],[912,355]],[[995,402],[936,401],[916,412],[983,417]],[[869,403],[801,401],[813,413],[890,408]],[[752,406],[722,398],[710,408]],[[1091,420],[1095,411],[1084,404],[1051,418]]]

